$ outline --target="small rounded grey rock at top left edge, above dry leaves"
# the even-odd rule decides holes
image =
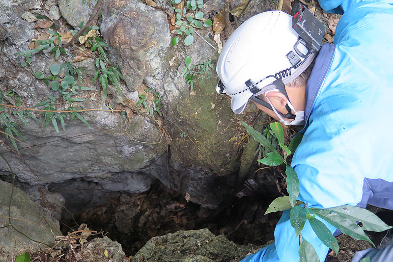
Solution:
[[[85,0],[84,4],[82,0],[59,0],[58,7],[68,24],[77,27],[81,22],[86,24],[95,3],[96,0]]]

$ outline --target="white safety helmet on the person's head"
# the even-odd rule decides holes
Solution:
[[[276,89],[272,87],[276,79],[286,84],[298,77],[314,59],[314,52],[292,28],[292,16],[282,11],[260,13],[226,41],[217,62],[216,91],[231,96],[230,106],[240,114],[251,97],[267,91],[266,87]]]

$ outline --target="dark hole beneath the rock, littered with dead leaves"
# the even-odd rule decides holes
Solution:
[[[66,199],[60,228],[67,232],[87,224],[90,230],[103,231],[119,242],[127,256],[134,256],[153,236],[179,230],[208,228],[224,234],[236,244],[262,245],[274,238],[281,212],[264,215],[273,199],[249,196],[237,198],[220,210],[209,210],[187,202],[184,196],[155,182],[147,192],[130,194],[107,192],[93,207],[75,208]],[[67,204],[68,203],[68,204]]]

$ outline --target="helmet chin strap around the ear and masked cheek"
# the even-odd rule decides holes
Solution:
[[[272,84],[267,85],[266,87],[262,88],[260,90],[260,92],[258,92],[258,94],[267,93],[267,92],[273,91],[274,89],[278,89],[286,97],[287,103],[285,105],[285,108],[288,111],[287,114],[283,114],[279,110],[277,110],[276,108],[273,108],[273,106],[270,104],[270,101],[269,101],[269,103],[267,103],[259,98],[256,98],[255,96],[251,97],[250,100],[252,100],[253,102],[255,102],[259,105],[263,105],[263,106],[269,108],[270,110],[276,112],[276,114],[280,114],[284,118],[295,119],[296,115],[292,114],[291,109],[293,109],[295,112],[296,112],[296,110],[293,108],[291,102],[289,101],[288,94],[286,93],[286,90],[285,90],[285,84],[282,82],[281,79],[277,79]]]

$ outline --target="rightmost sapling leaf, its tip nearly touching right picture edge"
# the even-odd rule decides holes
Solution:
[[[392,228],[385,224],[385,222],[374,213],[359,207],[343,205],[336,208],[330,208],[328,210],[335,211],[339,215],[346,217],[353,222],[362,222],[363,230],[381,232]]]

